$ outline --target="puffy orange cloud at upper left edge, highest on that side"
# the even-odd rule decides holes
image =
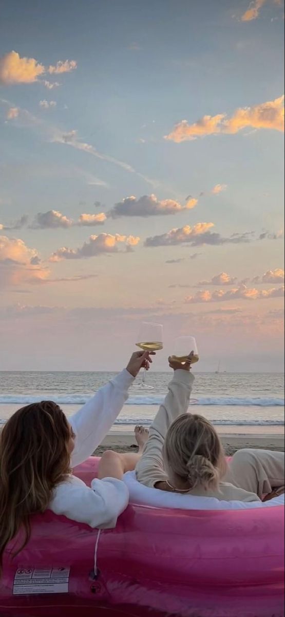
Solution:
[[[75,60],[65,60],[65,62],[59,60],[56,66],[46,68],[35,58],[21,58],[17,51],[10,51],[0,58],[0,83],[4,85],[35,83],[44,73],[69,73],[75,68]],[[44,80],[43,83],[47,86],[49,82]]]

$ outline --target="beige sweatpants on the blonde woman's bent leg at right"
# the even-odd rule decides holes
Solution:
[[[237,450],[223,481],[256,493],[262,499],[262,495],[271,493],[273,489],[284,488],[284,452]]]

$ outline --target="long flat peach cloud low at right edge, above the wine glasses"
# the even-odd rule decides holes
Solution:
[[[201,302],[228,302],[228,300],[265,300],[269,298],[284,297],[284,286],[272,289],[258,290],[255,288],[247,288],[246,285],[241,285],[239,288],[230,289],[224,291],[218,289],[217,291],[197,291],[195,296],[186,296],[185,302],[187,304],[199,304]]]

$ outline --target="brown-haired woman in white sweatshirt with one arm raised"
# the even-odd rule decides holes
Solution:
[[[139,455],[105,452],[91,488],[72,475],[104,439],[149,352],[135,352],[126,369],[99,389],[72,418],[52,401],[19,409],[0,434],[0,573],[2,555],[20,529],[30,537],[30,516],[49,509],[91,527],[112,528],[128,505],[123,474]],[[19,551],[18,551],[19,552]]]

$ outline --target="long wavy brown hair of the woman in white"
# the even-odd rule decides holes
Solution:
[[[67,418],[51,400],[27,405],[0,433],[0,576],[6,545],[23,529],[30,539],[30,515],[44,512],[52,489],[70,473]]]

